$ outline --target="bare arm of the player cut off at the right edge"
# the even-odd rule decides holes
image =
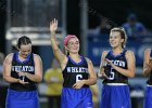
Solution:
[[[144,51],[144,59],[143,59],[143,75],[148,76],[152,71],[152,59],[150,57],[150,49]]]

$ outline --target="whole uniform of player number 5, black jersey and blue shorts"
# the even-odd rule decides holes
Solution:
[[[114,55],[110,51],[105,58],[115,66],[127,69],[126,52],[127,50],[124,50],[123,53]],[[109,79],[103,80],[100,108],[131,108],[128,78],[113,69],[110,64],[104,66],[104,72]]]

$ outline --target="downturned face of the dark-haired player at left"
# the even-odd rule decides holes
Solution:
[[[28,54],[31,52],[31,44],[22,44],[20,48],[20,56],[26,58]]]

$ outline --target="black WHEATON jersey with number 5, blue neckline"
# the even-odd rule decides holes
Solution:
[[[105,58],[112,60],[114,65],[127,69],[127,60],[125,54],[126,50],[124,50],[123,53],[116,56],[112,51],[110,51]],[[113,69],[110,64],[106,64],[106,66],[104,66],[104,72],[109,77],[109,79],[105,79],[103,83],[128,83],[128,78]]]

